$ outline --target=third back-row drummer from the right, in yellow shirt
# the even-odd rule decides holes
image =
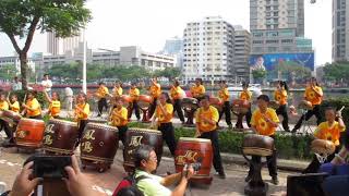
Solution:
[[[251,103],[252,93],[249,90],[248,83],[242,83],[242,91],[239,95],[239,99],[249,101]],[[248,113],[245,113],[245,115],[246,115],[246,124],[249,127],[251,127],[251,117],[252,117],[251,107],[249,108],[249,111]],[[243,128],[243,124],[242,124],[243,117],[244,117],[243,114],[240,114],[240,113],[238,114],[238,120],[236,124],[237,128]]]

